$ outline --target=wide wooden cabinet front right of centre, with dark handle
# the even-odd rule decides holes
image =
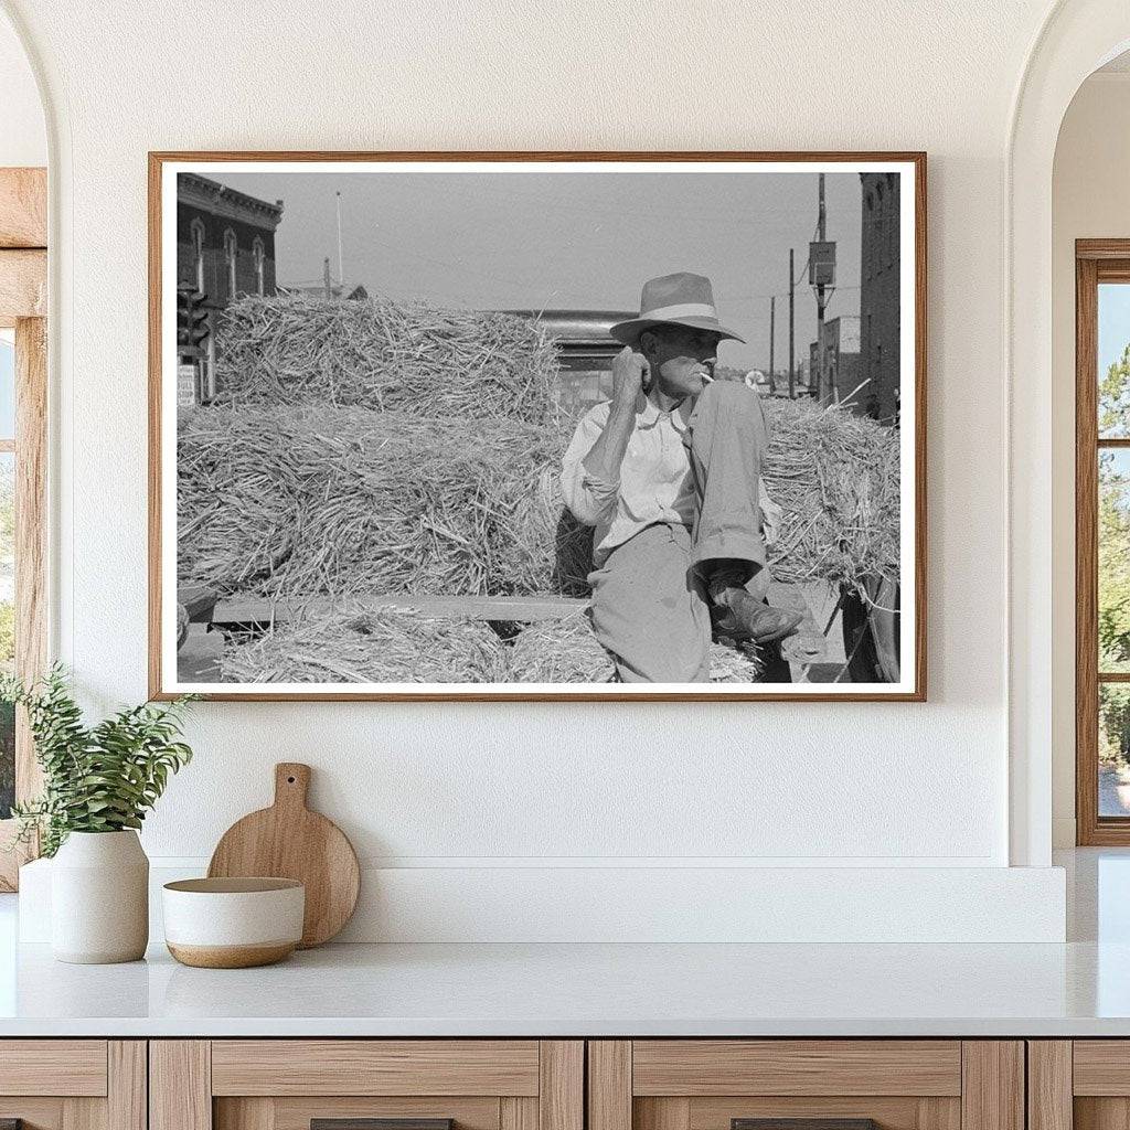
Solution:
[[[773,1130],[772,1122],[780,1120],[790,1120],[790,1130],[1024,1130],[1024,1045],[958,1040],[589,1044],[589,1130]]]

